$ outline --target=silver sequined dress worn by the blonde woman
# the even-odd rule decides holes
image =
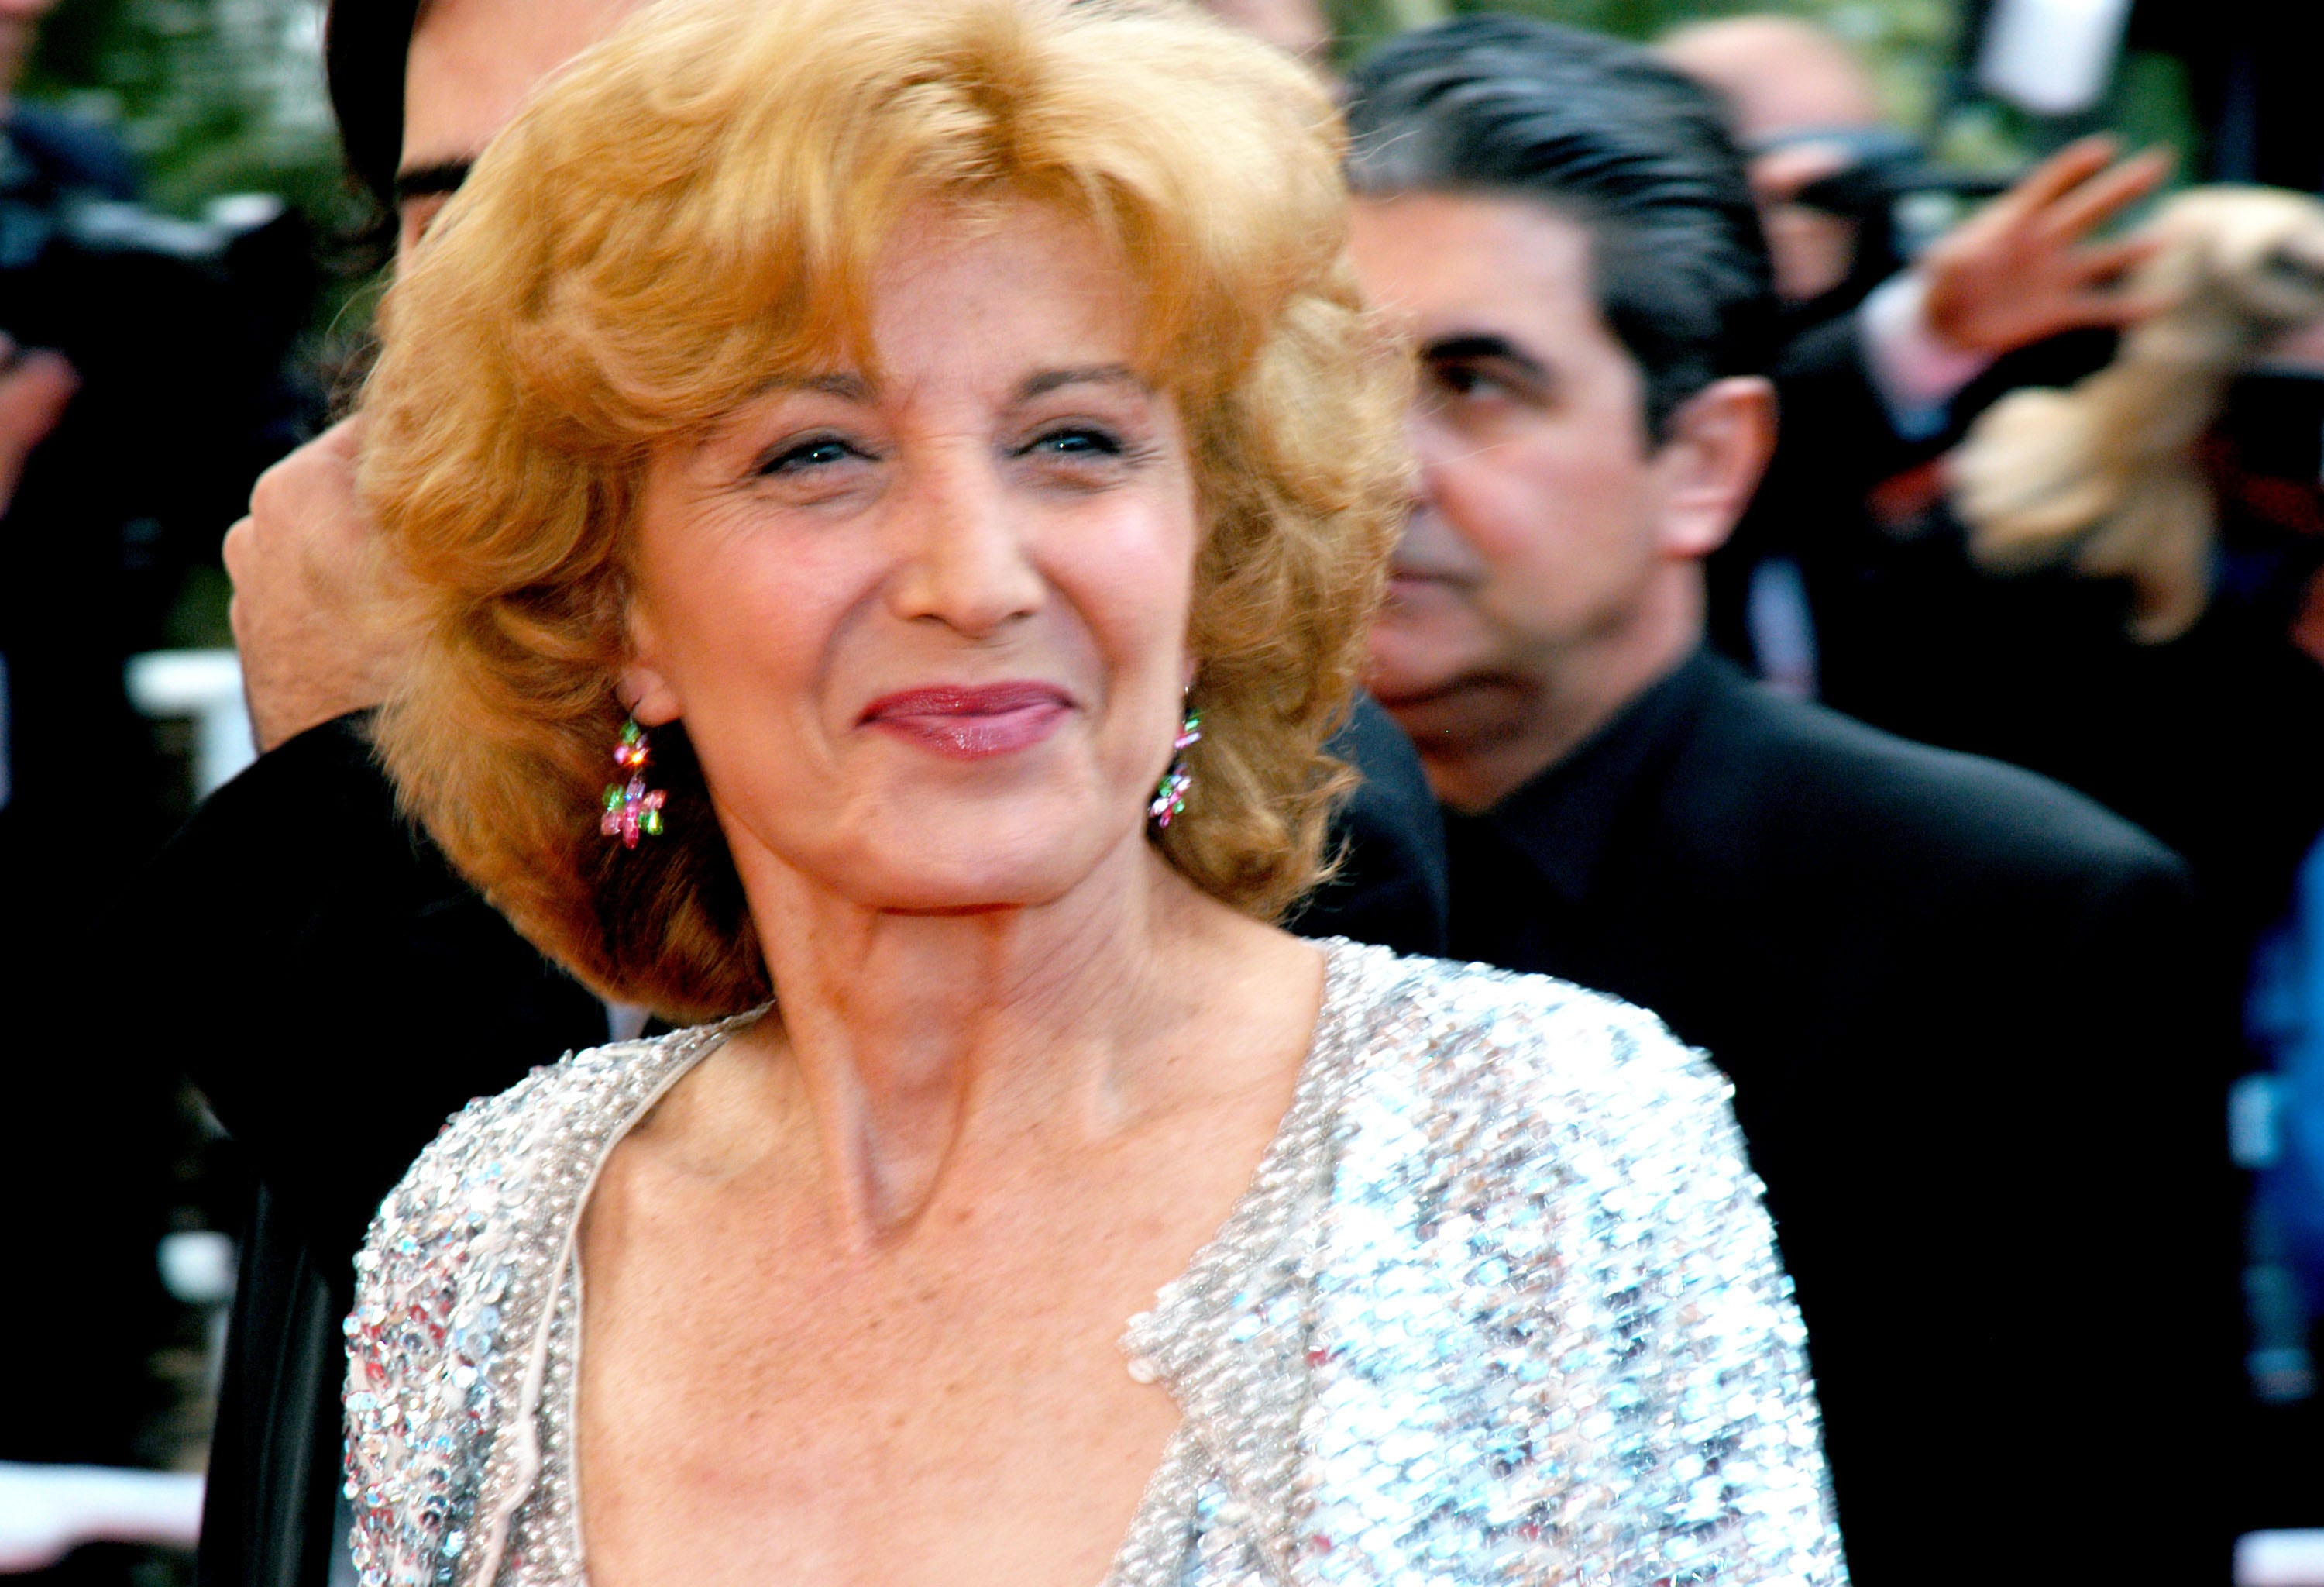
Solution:
[[[1248,1192],[1129,1320],[1183,1420],[1109,1587],[1845,1582],[1801,1327],[1727,1085],[1652,1015],[1329,943]],[[576,1225],[727,1025],[469,1104],[349,1334],[367,1587],[579,1587]]]

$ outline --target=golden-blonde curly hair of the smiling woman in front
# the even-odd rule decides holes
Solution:
[[[1020,200],[1113,253],[1192,453],[1204,737],[1155,841],[1257,918],[1322,876],[1353,781],[1322,741],[1404,467],[1322,88],[1169,0],[669,0],[476,163],[381,309],[363,404],[418,634],[379,753],[460,871],[609,997],[706,1018],[772,994],[679,725],[655,732],[665,834],[597,834],[648,451],[869,360],[906,214]]]

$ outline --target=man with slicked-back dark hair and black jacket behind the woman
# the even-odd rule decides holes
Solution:
[[[2150,1487],[2157,1448],[2205,1464],[2229,1364],[2182,867],[1701,651],[1773,304],[1699,88],[1476,16],[1364,63],[1350,121],[1357,274],[1420,356],[1371,683],[1448,806],[1455,955],[1655,1008],[1734,1080],[1855,1580],[2219,1580],[2205,1478]]]

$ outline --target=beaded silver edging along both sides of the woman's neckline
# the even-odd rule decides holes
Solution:
[[[1227,1301],[1253,1290],[1257,1269],[1290,1266],[1306,1269],[1313,1252],[1287,1250],[1294,1236],[1297,1208],[1308,1197],[1329,1192],[1329,1150],[1322,1150],[1322,1134],[1329,1129],[1334,1101],[1339,1099],[1348,1057],[1348,1015],[1353,988],[1360,981],[1357,964],[1367,957],[1360,943],[1325,939],[1318,943],[1325,955],[1322,997],[1315,1008],[1315,1025],[1308,1032],[1306,1053],[1292,1085],[1292,1101],[1276,1122],[1267,1148],[1250,1171],[1250,1180],[1227,1208],[1225,1220],[1195,1250],[1185,1269],[1155,1292],[1155,1304],[1136,1313],[1122,1327],[1120,1350],[1125,1371],[1139,1383],[1162,1383],[1178,1403],[1178,1427],[1162,1445],[1162,1459],[1148,1475],[1139,1496],[1139,1508],[1129,1520],[1122,1543],[1113,1550],[1106,1575],[1095,1587],[1167,1587],[1176,1582],[1185,1547],[1192,1541],[1197,1506],[1204,1487],[1225,1480],[1239,1487],[1236,1450],[1206,1450],[1197,1434],[1199,1408],[1192,1401],[1236,1394],[1248,1401],[1264,1389],[1264,1380],[1222,1380],[1218,1364],[1225,1355],[1213,1338],[1225,1327]],[[532,1410],[539,1427],[541,1464],[530,1496],[521,1513],[511,1517],[511,1545],[530,1534],[539,1554],[548,1557],[551,1573],[528,1578],[525,1564],[535,1557],[530,1547],[511,1547],[502,1568],[514,1568],[518,1582],[537,1580],[541,1587],[588,1587],[588,1557],[581,1543],[581,1473],[579,1473],[579,1427],[581,1427],[581,1222],[588,1215],[597,1178],[614,1150],[646,1118],[662,1097],[672,1092],[704,1060],[718,1053],[734,1032],[746,1029],[767,1008],[725,1020],[711,1027],[702,1041],[669,1073],[641,1092],[627,1115],[604,1134],[586,1166],[581,1192],[574,1201],[565,1229],[565,1252],[551,1283],[551,1317],[546,1327],[546,1359],[539,1378],[539,1401]],[[1276,1273],[1276,1283],[1287,1273]],[[1297,1373],[1276,1376],[1274,1383],[1294,1385]],[[1278,1399],[1283,1399],[1278,1394]],[[1248,1403],[1246,1403],[1248,1408]],[[1269,1420],[1297,1420],[1297,1396],[1283,1406],[1267,1406]],[[1283,1429],[1290,1431],[1287,1427]],[[1283,1448],[1290,1438],[1278,1441]],[[1204,1459],[1208,1455],[1208,1459]],[[1267,1473],[1243,1473],[1262,1478]],[[1281,1575],[1287,1559],[1271,1557],[1267,1564]]]

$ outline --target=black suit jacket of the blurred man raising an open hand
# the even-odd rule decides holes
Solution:
[[[2324,830],[2324,667],[2289,637],[2315,539],[2222,500],[2210,606],[2180,639],[2140,644],[2124,581],[1985,572],[1938,476],[1938,458],[2001,395],[2071,386],[2113,349],[2110,332],[2073,332],[2010,353],[1954,397],[1945,430],[1906,441],[1855,316],[1803,335],[1776,369],[1769,476],[1713,558],[1713,639],[1750,655],[1750,567],[1796,558],[1824,704],[2057,778],[2152,832],[2194,867],[2212,974],[2240,981]],[[2266,381],[2238,390],[2266,407],[2254,386]],[[2284,421],[2312,425],[2312,411]],[[2315,483],[2312,455],[2298,479]]]

